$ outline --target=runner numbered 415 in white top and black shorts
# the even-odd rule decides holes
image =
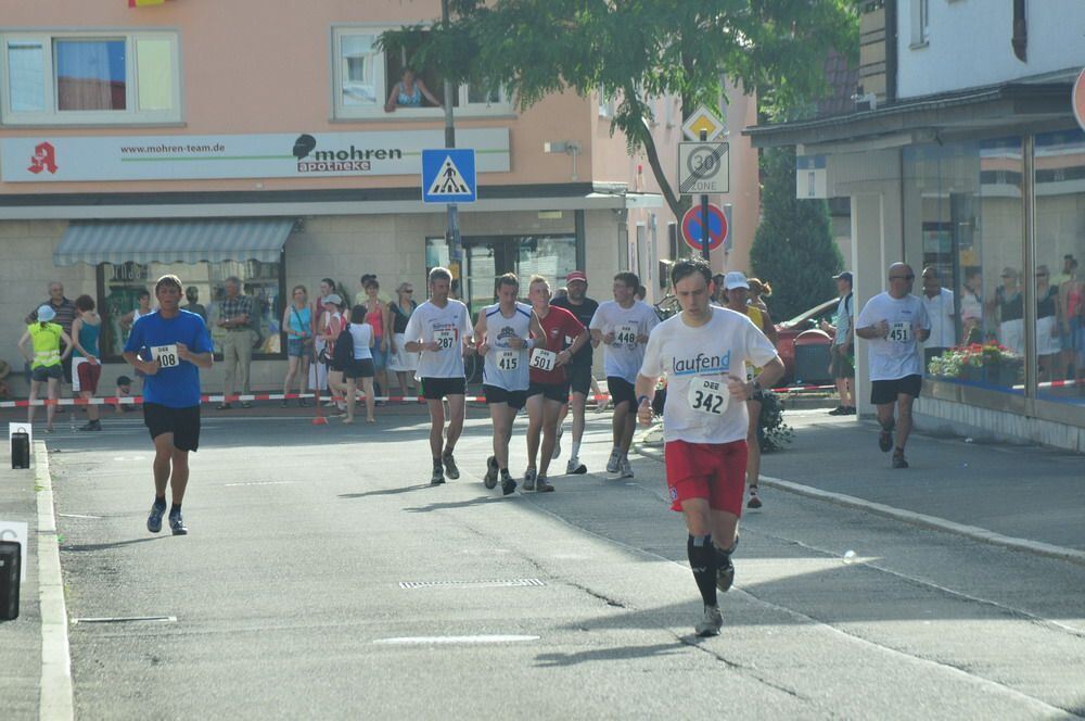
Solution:
[[[477,352],[484,358],[482,389],[494,421],[494,455],[486,459],[483,482],[493,489],[500,471],[503,495],[516,490],[516,482],[509,475],[509,441],[516,413],[527,403],[532,334],[542,336],[532,306],[516,302],[519,292],[520,279],[515,274],[498,278],[498,302],[483,308],[475,324]]]

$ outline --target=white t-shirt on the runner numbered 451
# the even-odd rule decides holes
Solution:
[[[922,301],[915,295],[895,299],[889,293],[879,293],[863,306],[855,327],[869,328],[882,320],[889,324],[889,338],[867,341],[870,380],[898,380],[905,376],[921,376],[923,360],[916,330],[931,327]]]

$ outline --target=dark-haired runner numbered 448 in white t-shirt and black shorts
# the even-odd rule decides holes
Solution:
[[[588,326],[591,339],[605,347],[603,371],[607,374],[607,390],[614,402],[611,423],[613,447],[607,461],[607,472],[618,473],[620,478],[633,478],[629,445],[637,426],[637,400],[633,387],[644,358],[648,334],[660,324],[655,311],[637,300],[640,279],[633,273],[614,276],[614,300],[600,303]]]

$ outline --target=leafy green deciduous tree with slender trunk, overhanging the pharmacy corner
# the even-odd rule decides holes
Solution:
[[[677,195],[650,131],[650,101],[681,99],[682,117],[726,102],[724,78],[767,107],[824,87],[829,48],[858,47],[855,0],[449,0],[452,20],[382,35],[385,50],[454,84],[503,87],[521,110],[552,93],[617,100],[611,132],[642,150],[677,217]]]

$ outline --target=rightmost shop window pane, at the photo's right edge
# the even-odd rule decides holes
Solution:
[[[1085,132],[1036,136],[1037,397],[1085,406]]]

